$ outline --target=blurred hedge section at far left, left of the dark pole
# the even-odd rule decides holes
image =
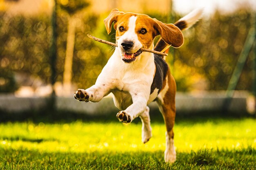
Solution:
[[[0,77],[4,78],[6,72],[27,72],[31,77],[49,82],[49,17],[27,18],[1,13],[0,18],[0,64],[5,70]],[[9,78],[5,79],[8,82]],[[11,85],[16,86],[14,82]],[[2,86],[11,85],[6,83]]]

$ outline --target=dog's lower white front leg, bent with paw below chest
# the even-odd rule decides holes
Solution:
[[[140,91],[142,91],[140,89]],[[132,96],[132,105],[127,107],[124,111],[119,111],[117,113],[117,118],[119,121],[124,123],[130,123],[133,119],[140,116],[143,113],[147,106],[148,96],[144,92],[133,91],[130,93]]]

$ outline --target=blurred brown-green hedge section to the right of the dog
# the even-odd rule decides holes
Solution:
[[[174,70],[177,70],[176,65],[186,65],[189,68],[183,78],[199,74],[206,79],[209,89],[227,89],[249,28],[254,24],[254,15],[248,9],[238,9],[226,15],[216,11],[208,20],[198,22],[184,32],[185,43],[176,50]],[[251,90],[253,58],[252,51],[237,89]],[[179,74],[178,71],[175,74]]]

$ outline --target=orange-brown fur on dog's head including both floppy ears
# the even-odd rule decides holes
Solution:
[[[145,14],[138,13],[124,13],[113,9],[104,20],[108,33],[111,31],[111,25],[114,22],[114,28],[116,30],[116,39],[123,35],[128,30],[128,22],[131,16],[136,16],[135,33],[138,35],[138,39],[144,48],[149,48],[153,42],[153,39],[157,35],[161,35],[162,39],[169,45],[177,48],[184,42],[184,37],[180,29],[173,24],[164,24],[156,19],[153,19]],[[124,26],[124,31],[119,31],[119,27]],[[147,33],[141,34],[141,28],[145,28]]]

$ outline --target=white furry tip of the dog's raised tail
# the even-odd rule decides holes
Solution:
[[[187,25],[186,25],[186,28],[184,28],[183,30],[186,30],[191,26],[193,26],[196,22],[198,22],[198,20],[202,18],[202,14],[203,14],[203,8],[195,9],[188,15],[185,15],[184,17],[180,18],[178,22],[185,21]]]

